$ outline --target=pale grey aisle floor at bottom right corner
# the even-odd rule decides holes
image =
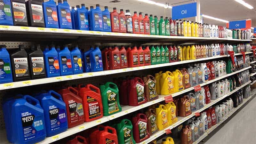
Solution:
[[[255,144],[256,98],[252,100],[219,130],[208,135],[200,144]]]

